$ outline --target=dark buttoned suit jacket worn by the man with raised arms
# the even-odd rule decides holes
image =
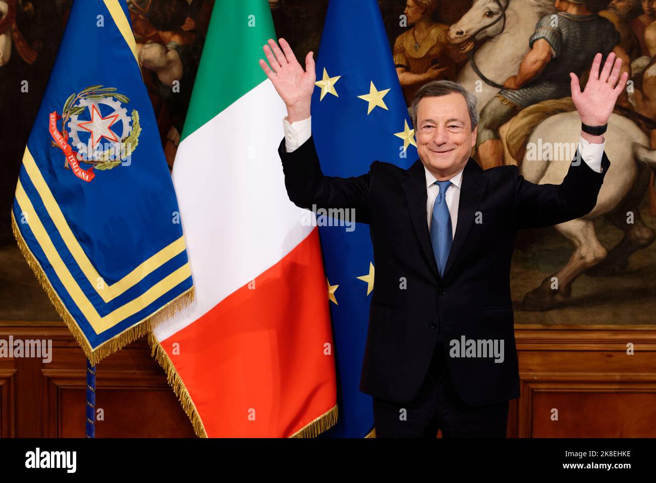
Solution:
[[[294,152],[280,143],[289,199],[297,206],[354,208],[369,224],[376,280],[369,311],[360,390],[407,402],[426,376],[438,333],[457,394],[474,406],[520,396],[510,261],[519,228],[583,217],[596,204],[602,173],[580,159],[562,184],[533,184],[516,166],[483,171],[470,158],[462,173],[455,238],[440,277],[426,222],[426,177],[419,159],[409,169],[374,161],[358,177],[326,177],[310,137]],[[478,220],[477,220],[478,216]],[[401,289],[401,278],[407,288]],[[504,341],[504,361],[454,358],[451,342]]]

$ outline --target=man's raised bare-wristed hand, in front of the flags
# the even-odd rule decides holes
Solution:
[[[269,61],[269,67],[260,58],[260,67],[271,79],[280,98],[287,106],[287,121],[293,123],[310,117],[310,103],[312,102],[312,91],[316,81],[314,72],[314,58],[312,51],[305,57],[305,70],[298,64],[289,43],[285,39],[279,39],[278,47],[274,39],[269,39],[268,45],[264,45],[264,55]]]

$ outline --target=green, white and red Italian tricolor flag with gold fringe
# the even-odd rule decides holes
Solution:
[[[287,198],[286,110],[258,64],[270,38],[268,1],[216,1],[173,167],[195,303],[150,342],[199,436],[337,421],[318,228]]]

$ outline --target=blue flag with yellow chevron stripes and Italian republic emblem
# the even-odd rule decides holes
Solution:
[[[73,3],[12,207],[18,245],[92,364],[193,297],[125,0]]]

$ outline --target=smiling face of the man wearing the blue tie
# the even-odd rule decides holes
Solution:
[[[450,179],[466,165],[476,132],[460,93],[424,97],[417,106],[417,152],[438,180]]]

